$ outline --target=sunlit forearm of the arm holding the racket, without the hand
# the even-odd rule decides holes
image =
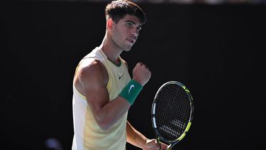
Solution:
[[[126,141],[139,148],[143,148],[143,145],[148,141],[148,139],[134,129],[129,122],[126,124],[126,134]]]

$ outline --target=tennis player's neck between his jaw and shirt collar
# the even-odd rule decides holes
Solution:
[[[104,36],[104,40],[102,41],[100,48],[104,52],[106,57],[111,60],[111,62],[113,62],[114,64],[120,63],[120,60],[118,60],[118,58],[123,50],[118,48],[118,46],[116,46],[106,35]]]

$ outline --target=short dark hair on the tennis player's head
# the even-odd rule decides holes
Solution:
[[[105,9],[106,18],[112,18],[116,23],[126,16],[126,14],[136,16],[140,19],[140,23],[147,23],[147,19],[145,13],[140,7],[128,0],[117,0],[111,1],[111,3],[107,4]]]

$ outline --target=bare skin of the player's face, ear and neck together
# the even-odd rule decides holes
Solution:
[[[131,50],[138,39],[141,26],[139,19],[131,15],[121,18],[118,23],[111,18],[106,21],[106,36],[101,49],[113,63],[117,63],[123,51]]]

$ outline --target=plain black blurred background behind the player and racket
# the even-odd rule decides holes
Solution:
[[[104,38],[108,2],[1,3],[1,149],[71,149],[72,77]],[[192,92],[195,112],[174,149],[266,149],[265,1],[135,2],[148,23],[122,57],[130,73],[143,62],[153,75],[129,110],[131,124],[153,138],[153,97],[177,80]]]

